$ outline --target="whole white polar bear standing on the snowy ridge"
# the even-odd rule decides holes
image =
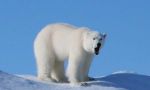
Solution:
[[[65,23],[47,25],[34,41],[38,79],[69,81],[71,84],[88,81],[91,61],[95,54],[99,54],[105,38],[106,34],[86,27],[78,28]],[[65,74],[66,59],[68,66]]]

